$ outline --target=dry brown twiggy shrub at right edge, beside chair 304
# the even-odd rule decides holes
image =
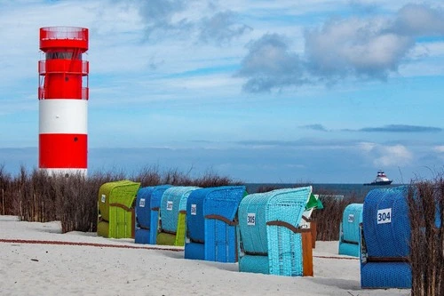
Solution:
[[[444,180],[417,181],[408,191],[411,295],[444,295]]]

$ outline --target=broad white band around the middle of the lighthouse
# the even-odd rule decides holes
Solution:
[[[88,100],[39,100],[40,133],[88,133]]]

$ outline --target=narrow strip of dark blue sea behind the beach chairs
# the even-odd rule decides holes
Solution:
[[[269,191],[277,188],[296,188],[301,186],[312,186],[313,194],[320,196],[331,196],[335,198],[355,198],[357,200],[364,200],[365,196],[371,189],[374,188],[392,188],[400,186],[401,184],[391,184],[384,186],[369,186],[363,184],[286,184],[286,183],[247,183],[247,192],[257,193],[263,191]],[[265,190],[264,190],[265,189]]]

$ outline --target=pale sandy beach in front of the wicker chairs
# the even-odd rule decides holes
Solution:
[[[359,260],[317,242],[313,277],[240,273],[238,265],[185,260],[183,248],[95,233],[61,234],[58,221],[0,216],[1,295],[409,295],[362,290]]]

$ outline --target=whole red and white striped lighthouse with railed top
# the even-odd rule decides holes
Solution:
[[[38,167],[48,173],[88,167],[88,29],[40,28]]]

